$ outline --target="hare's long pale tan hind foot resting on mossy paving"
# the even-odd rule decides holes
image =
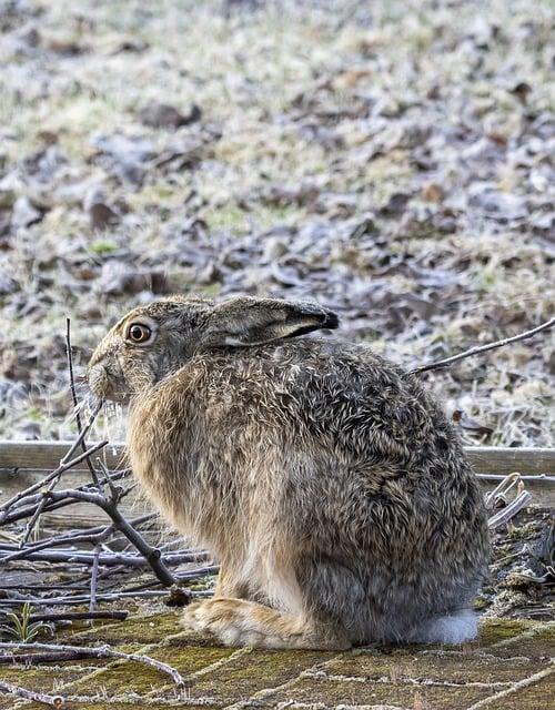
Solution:
[[[186,607],[181,623],[211,633],[225,646],[261,648],[346,649],[339,635],[315,630],[300,617],[244,599],[208,599]]]

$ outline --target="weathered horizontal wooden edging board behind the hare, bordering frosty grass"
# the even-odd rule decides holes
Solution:
[[[71,447],[71,442],[7,442],[0,440],[0,469],[53,470]],[[507,448],[467,446],[466,454],[477,474],[555,475],[555,448]],[[110,444],[102,452],[110,469],[124,466],[124,445]],[[80,464],[75,470],[85,470]]]

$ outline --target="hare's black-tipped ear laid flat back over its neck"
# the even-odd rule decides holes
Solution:
[[[336,328],[335,313],[317,304],[274,298],[232,298],[209,315],[206,345],[261,345],[319,328]]]

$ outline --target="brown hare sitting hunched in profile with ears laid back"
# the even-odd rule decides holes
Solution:
[[[172,296],[95,349],[90,388],[129,402],[143,489],[221,562],[183,625],[266,648],[472,639],[478,483],[416,376],[367,346],[297,337],[335,327],[315,304]]]

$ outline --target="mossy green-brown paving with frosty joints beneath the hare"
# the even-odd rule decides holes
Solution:
[[[131,661],[1,667],[0,679],[61,694],[70,710],[544,710],[555,698],[555,623],[484,619],[463,647],[372,647],[346,652],[212,646],[179,630],[179,612],[133,616],[64,633],[79,646],[111,643],[175,667],[190,688]],[[43,708],[0,696],[4,708]]]

